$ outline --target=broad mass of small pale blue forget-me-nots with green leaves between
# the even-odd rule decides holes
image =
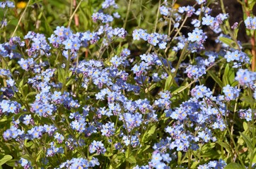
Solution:
[[[167,1],[159,5],[163,18],[157,22],[167,25],[170,21],[168,29],[173,30],[168,35],[163,34],[168,29],[161,24],[159,32],[152,33],[114,27],[110,22],[120,18],[119,13],[112,13],[117,4],[115,0],[105,0],[102,8],[110,8],[112,14],[101,10],[93,13],[91,17],[97,25],[94,30],[73,32],[70,27],[58,26],[49,38],[30,31],[24,41],[11,37],[0,44],[2,141],[6,142],[3,146],[18,150],[17,165],[122,168],[129,163],[136,169],[173,168],[182,159],[183,165],[190,158],[188,153],[197,156],[204,153],[203,149],[217,151],[221,144],[208,146],[219,141],[219,133],[228,134],[228,115],[236,115],[243,123],[255,120],[253,108],[243,105],[245,101],[240,99],[256,99],[256,74],[242,69],[250,63],[246,51],[239,42],[243,51],[224,44],[220,44],[218,52],[204,50],[209,35],[204,32],[205,27],[228,38],[221,34],[228,14],[213,17],[211,8],[204,6],[206,0],[196,3],[202,7],[180,6],[175,10]],[[0,8],[6,6],[13,4],[0,3]],[[196,15],[199,17],[194,19]],[[187,18],[192,20],[192,29],[184,34]],[[255,30],[255,18],[248,17],[245,25]],[[143,39],[151,45],[136,49],[139,42],[134,42],[136,45],[128,49],[129,42],[122,42],[129,39],[125,39],[129,33],[134,40]],[[228,80],[216,62],[228,63],[227,69],[233,63]],[[206,70],[211,74],[207,75]],[[218,71],[219,75],[214,75]],[[219,77],[225,80],[221,83]],[[213,90],[211,84],[204,84],[209,79],[218,84]],[[252,93],[253,96],[246,95]],[[232,113],[230,106],[234,100],[239,107],[237,113]],[[25,154],[40,158],[40,162],[30,161]],[[200,160],[201,157],[194,163],[198,168],[226,166],[221,159],[206,158],[205,164]]]

